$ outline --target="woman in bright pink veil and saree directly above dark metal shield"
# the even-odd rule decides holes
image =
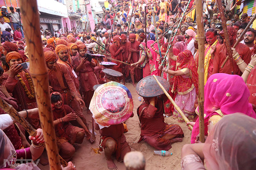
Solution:
[[[149,59],[149,67],[151,75],[160,75],[160,70],[158,69],[158,61],[157,61],[157,53],[150,47],[151,44],[153,44],[153,40],[147,41],[147,48],[150,50],[152,54],[152,59]],[[154,44],[154,47],[158,50],[157,43]]]

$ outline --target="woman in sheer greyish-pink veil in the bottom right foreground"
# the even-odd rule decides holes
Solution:
[[[251,170],[256,167],[256,119],[242,113],[224,116],[205,143],[182,147],[181,169]]]

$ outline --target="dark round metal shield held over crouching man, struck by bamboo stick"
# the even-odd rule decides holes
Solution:
[[[166,91],[169,91],[170,85],[164,78],[156,76]],[[155,97],[164,94],[161,87],[153,76],[147,76],[139,81],[136,86],[136,92],[142,97]]]

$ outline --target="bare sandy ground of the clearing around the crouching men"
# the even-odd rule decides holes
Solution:
[[[132,93],[133,98],[133,118],[129,118],[126,121],[128,132],[125,133],[127,142],[129,143],[132,151],[140,151],[143,153],[146,159],[146,170],[163,170],[163,169],[181,169],[181,148],[183,145],[190,143],[191,131],[188,130],[185,123],[178,123],[177,120],[174,120],[172,117],[165,118],[165,122],[169,124],[178,124],[181,126],[185,137],[182,142],[172,144],[172,148],[169,150],[173,153],[170,157],[161,157],[158,155],[153,155],[154,148],[148,145],[146,142],[142,141],[138,143],[140,138],[140,127],[139,127],[139,118],[137,116],[137,108],[142,103],[139,102],[139,95],[136,93],[136,89],[130,83],[125,84],[126,87]],[[84,115],[87,118],[87,122],[90,122],[91,129],[91,116],[84,112]],[[108,170],[107,163],[105,160],[104,152],[101,154],[96,154],[94,151],[90,151],[91,148],[99,147],[99,132],[95,131],[96,141],[91,144],[89,141],[84,139],[82,144],[75,144],[76,153],[74,154],[71,161],[76,166],[77,170]],[[114,160],[114,163],[119,170],[125,170],[123,162],[117,162]],[[39,168],[42,170],[48,170],[49,166],[39,165]]]

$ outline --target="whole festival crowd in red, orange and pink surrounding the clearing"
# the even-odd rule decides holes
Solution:
[[[197,102],[199,28],[195,9],[190,10],[195,7],[195,1],[108,2],[108,8],[102,7],[103,17],[98,19],[93,32],[55,30],[52,34],[41,30],[60,156],[65,161],[71,160],[75,153],[74,143],[81,144],[84,137],[91,143],[95,142],[95,135],[89,130],[83,112],[83,107],[86,107],[87,114],[92,114],[89,106],[95,85],[115,81],[123,85],[132,83],[136,87],[140,80],[156,75],[169,84],[169,95],[189,119],[187,125],[193,126],[192,144],[184,145],[182,149],[182,169],[205,169],[203,159],[206,159],[207,169],[255,168],[255,156],[248,154],[256,149],[253,144],[256,141],[256,31],[252,25],[246,29],[252,16],[242,13],[242,10],[237,13],[238,2],[228,8],[222,1],[229,34],[229,40],[226,40],[219,7],[214,0],[202,1],[206,37],[203,78],[206,143],[200,143]],[[2,7],[2,11],[5,9]],[[14,9],[10,7],[10,10],[15,19]],[[37,129],[37,136],[29,136],[24,127],[0,109],[0,168],[10,167],[3,162],[4,159],[12,162],[24,158],[24,154],[25,159],[43,160],[41,154],[44,151],[34,83],[29,68],[20,65],[29,63],[31,54],[22,27],[6,17],[3,13],[0,16],[0,96]],[[13,30],[11,26],[14,25]],[[240,42],[231,48],[233,59],[225,63],[226,41],[231,47]],[[112,65],[107,67],[101,62],[112,62]],[[112,68],[121,76],[104,72],[104,68]],[[140,90],[147,93],[144,88],[144,91],[142,87]],[[140,95],[140,91],[137,92]],[[184,133],[178,123],[184,122],[184,118],[163,93],[143,96],[142,104],[136,109],[141,128],[138,142],[144,140],[158,150],[169,150],[172,143],[182,142]],[[165,123],[165,117],[169,116],[177,119],[177,124]],[[101,127],[94,121],[93,127],[99,130],[99,150],[104,151],[108,168],[117,169],[111,156],[114,154],[117,161],[123,161],[131,152],[124,135],[127,125]],[[131,160],[137,157],[141,164],[136,164],[135,168]],[[145,168],[143,155],[135,152],[127,154],[126,158],[127,169]],[[35,168],[32,163],[26,166]],[[72,162],[62,168],[76,169]]]

